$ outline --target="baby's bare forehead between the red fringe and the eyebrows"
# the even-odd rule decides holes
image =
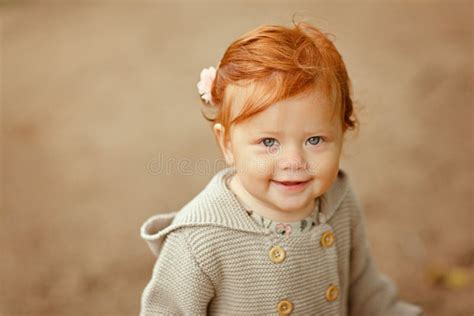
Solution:
[[[338,128],[336,112],[324,93],[312,90],[274,103],[238,125],[246,131],[331,131]]]

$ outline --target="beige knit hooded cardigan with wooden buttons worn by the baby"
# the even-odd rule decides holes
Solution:
[[[360,201],[342,169],[311,231],[281,236],[225,185],[228,167],[179,212],[141,227],[157,256],[140,315],[422,315],[370,254]]]

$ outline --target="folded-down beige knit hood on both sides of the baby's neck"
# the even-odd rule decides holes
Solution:
[[[141,237],[155,256],[159,255],[166,235],[180,227],[220,226],[254,234],[271,233],[247,215],[235,194],[227,187],[226,178],[235,172],[235,167],[218,171],[206,187],[179,211],[157,214],[143,223]],[[327,221],[334,215],[348,186],[347,173],[339,169],[336,180],[321,199],[320,220]]]

